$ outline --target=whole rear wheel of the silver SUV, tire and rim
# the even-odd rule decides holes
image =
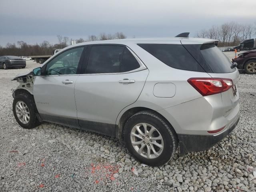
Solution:
[[[124,142],[137,160],[150,166],[160,166],[175,154],[178,139],[172,126],[160,116],[142,111],[126,122]]]

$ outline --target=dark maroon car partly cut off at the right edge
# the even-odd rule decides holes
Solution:
[[[238,69],[244,70],[247,74],[256,74],[256,50],[238,54],[238,58],[232,61],[238,64]]]

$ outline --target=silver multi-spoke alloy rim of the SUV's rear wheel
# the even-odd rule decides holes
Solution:
[[[145,158],[154,159],[163,152],[164,140],[162,135],[150,124],[136,124],[132,128],[130,139],[136,152]]]

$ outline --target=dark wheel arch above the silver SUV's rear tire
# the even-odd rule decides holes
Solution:
[[[122,113],[122,115],[119,114],[120,118],[117,119],[116,125],[117,125],[117,130],[116,130],[116,137],[118,138],[118,140],[120,142],[124,142],[124,125],[126,124],[127,120],[133,116],[134,114],[140,112],[140,111],[147,111],[147,112],[151,112],[153,114],[155,114],[156,116],[159,116],[160,118],[162,118],[175,132],[177,138],[177,132],[174,129],[174,127],[172,126],[172,124],[159,112],[157,112],[156,110],[153,110],[151,108],[147,108],[147,107],[132,107],[129,108],[128,110],[126,110],[124,113]]]

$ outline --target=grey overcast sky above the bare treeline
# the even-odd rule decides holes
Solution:
[[[195,35],[212,25],[256,22],[256,0],[0,0],[0,45],[101,32],[132,37]]]

